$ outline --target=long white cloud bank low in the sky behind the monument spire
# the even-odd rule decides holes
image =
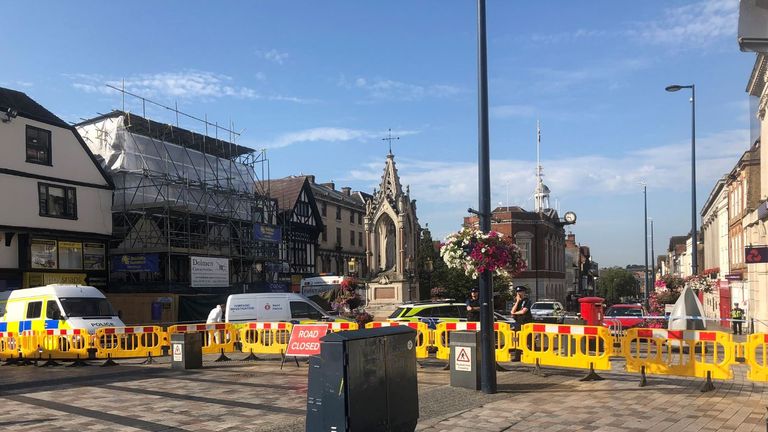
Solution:
[[[728,172],[741,154],[747,150],[749,131],[729,130],[701,137],[696,142],[697,183],[711,187]],[[606,194],[636,193],[639,183],[665,191],[684,191],[690,187],[690,142],[649,146],[617,157],[585,155],[580,157],[548,158],[542,160],[544,182],[553,196],[568,196],[583,200],[585,197]],[[477,201],[477,164],[473,162],[440,162],[398,159],[398,172],[403,184],[420,201],[435,204],[454,204],[464,208]],[[352,170],[349,180],[367,182],[378,187],[381,177],[380,161],[371,162],[362,169]],[[530,198],[535,187],[535,161],[492,160],[492,202],[509,201],[531,207]],[[427,217],[429,220],[429,217]]]

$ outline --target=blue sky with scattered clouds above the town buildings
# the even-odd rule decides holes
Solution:
[[[601,265],[643,262],[641,181],[657,254],[688,233],[690,104],[664,87],[697,87],[700,209],[749,145],[754,54],[736,43],[738,1],[487,11],[494,205],[533,207],[540,119],[552,204],[578,214],[571,230]],[[104,84],[125,80],[232,122],[240,144],[267,148],[272,178],[368,192],[391,128],[420,222],[442,238],[477,207],[475,26],[470,0],[14,2],[0,16],[0,85],[76,122],[120,108]]]

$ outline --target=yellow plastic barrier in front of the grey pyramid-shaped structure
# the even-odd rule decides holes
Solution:
[[[622,343],[628,372],[731,379],[735,347],[730,333],[629,329]]]

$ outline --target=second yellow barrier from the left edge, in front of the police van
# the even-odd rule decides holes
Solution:
[[[92,336],[86,329],[27,330],[21,333],[21,353],[27,359],[88,359]]]

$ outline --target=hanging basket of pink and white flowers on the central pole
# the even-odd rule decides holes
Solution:
[[[515,276],[526,268],[520,248],[510,237],[496,231],[486,234],[462,228],[445,239],[440,256],[448,267],[461,269],[472,279],[484,271]]]

